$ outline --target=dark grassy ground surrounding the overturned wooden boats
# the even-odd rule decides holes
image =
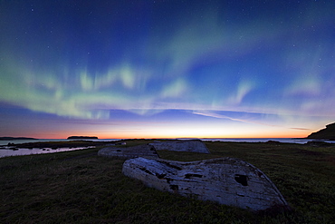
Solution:
[[[206,145],[211,154],[158,153],[176,161],[248,161],[273,180],[292,211],[254,213],[150,189],[122,175],[122,160],[98,157],[98,147],[1,158],[0,223],[334,223],[335,146]]]

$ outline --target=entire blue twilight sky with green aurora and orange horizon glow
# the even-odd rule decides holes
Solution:
[[[335,1],[0,1],[0,136],[305,137]]]

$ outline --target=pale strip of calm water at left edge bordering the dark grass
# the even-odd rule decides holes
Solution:
[[[2,147],[0,149],[0,158],[5,156],[22,156],[22,155],[31,155],[31,154],[44,154],[44,153],[53,153],[53,152],[60,152],[60,151],[78,151],[78,150],[86,150],[94,148],[95,146],[90,147],[76,147],[76,148],[33,148],[33,149],[17,149],[11,150],[10,147]]]

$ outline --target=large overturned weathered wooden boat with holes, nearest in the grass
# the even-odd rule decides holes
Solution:
[[[139,157],[125,161],[122,172],[148,187],[198,200],[252,210],[289,208],[261,170],[233,158],[182,162]]]

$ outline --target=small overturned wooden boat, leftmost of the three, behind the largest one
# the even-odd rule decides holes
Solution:
[[[138,145],[127,148],[106,147],[98,151],[98,155],[125,159],[136,158],[139,156],[158,158],[157,151],[151,145]]]

